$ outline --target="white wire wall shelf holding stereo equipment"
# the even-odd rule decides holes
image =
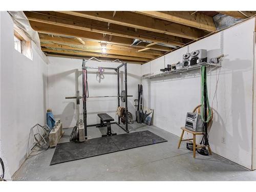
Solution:
[[[187,72],[187,71],[190,71],[190,70],[200,69],[201,66],[221,67],[221,64],[220,63],[201,62],[201,63],[198,63],[198,65],[196,65],[196,66],[188,66],[188,67],[184,67],[182,69],[166,71],[166,72],[148,73],[148,74],[142,75],[142,78],[151,79],[151,78],[154,78],[154,77],[160,77],[160,76],[165,76],[165,75],[170,75],[170,74],[175,74],[175,73]]]

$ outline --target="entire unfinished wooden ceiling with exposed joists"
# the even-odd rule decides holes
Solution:
[[[252,11],[219,11],[247,18]],[[216,31],[216,11],[25,11],[49,56],[145,63]],[[103,42],[103,44],[102,44]],[[105,44],[104,44],[105,43]],[[106,53],[102,53],[106,45]]]

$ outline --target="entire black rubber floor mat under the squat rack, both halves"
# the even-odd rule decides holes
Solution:
[[[166,141],[167,140],[150,131],[141,131],[88,139],[81,143],[58,143],[50,165],[129,150],[130,148]]]

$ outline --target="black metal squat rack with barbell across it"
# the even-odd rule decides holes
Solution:
[[[87,98],[100,98],[100,97],[117,97],[117,105],[118,107],[120,106],[120,99],[122,102],[125,102],[125,127],[122,127],[120,125],[120,117],[118,117],[118,122],[111,122],[111,124],[117,124],[123,131],[125,131],[126,133],[129,133],[129,129],[128,129],[128,121],[127,121],[127,115],[128,115],[128,104],[127,104],[127,97],[133,97],[132,95],[127,95],[127,63],[126,62],[121,62],[119,59],[116,59],[112,62],[121,62],[122,64],[120,66],[118,66],[117,68],[111,68],[111,67],[90,67],[90,66],[86,66],[86,63],[89,60],[92,59],[96,59],[99,62],[105,62],[104,60],[99,60],[95,57],[91,57],[90,59],[86,60],[83,59],[82,60],[82,70],[87,70],[87,69],[106,69],[106,70],[115,70],[117,72],[117,95],[116,96],[92,96],[89,97],[87,96],[87,91],[86,91],[86,87],[88,86],[87,82],[84,81],[85,79],[85,75],[82,73],[82,96],[79,96],[79,91],[77,91],[76,96],[67,96],[65,97],[66,99],[76,99],[76,103],[77,105],[80,104],[80,99],[82,99],[82,104],[83,104],[83,125],[84,125],[84,137],[85,139],[87,139],[87,127],[90,126],[106,126],[106,123],[98,123],[98,124],[87,124]],[[120,68],[124,67],[124,90],[121,91],[120,94]],[[87,77],[86,77],[87,79]],[[79,106],[78,106],[79,109]],[[79,121],[79,115],[78,115],[78,119],[77,119],[77,125]]]

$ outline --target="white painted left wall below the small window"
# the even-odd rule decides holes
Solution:
[[[5,178],[10,178],[26,158],[30,128],[36,123],[46,123],[47,64],[35,44],[32,44],[33,60],[14,49],[11,16],[7,12],[0,15],[0,156],[6,167]]]

